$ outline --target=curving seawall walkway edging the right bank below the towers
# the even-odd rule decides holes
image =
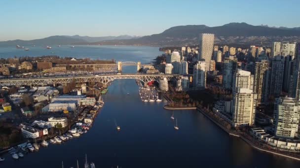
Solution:
[[[228,135],[231,135],[231,136],[238,137],[238,138],[242,139],[244,142],[246,142],[248,145],[250,145],[254,149],[257,149],[257,150],[259,150],[261,152],[266,152],[266,153],[274,154],[274,155],[277,155],[277,156],[282,156],[282,157],[285,157],[285,158],[290,158],[290,159],[293,159],[293,160],[300,161],[300,158],[297,158],[297,157],[293,157],[293,156],[289,156],[289,155],[285,155],[285,154],[281,154],[281,153],[276,153],[276,152],[273,152],[273,151],[270,151],[270,150],[266,150],[266,149],[260,148],[260,147],[256,146],[254,143],[252,143],[251,141],[247,140],[243,135],[239,135],[239,134],[236,134],[236,133],[234,133],[234,132],[232,132],[230,130],[227,130],[224,126],[222,126],[221,124],[219,124],[217,121],[215,121],[213,118],[211,118],[205,112],[203,112],[201,109],[196,108],[196,110],[199,111],[199,112],[201,112],[204,116],[206,116],[208,119],[210,119],[212,122],[214,122],[222,130],[224,130],[226,133],[228,133]]]

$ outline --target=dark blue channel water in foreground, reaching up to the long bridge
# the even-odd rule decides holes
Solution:
[[[135,47],[129,48],[131,51]],[[157,52],[154,49],[151,50]],[[132,73],[135,69],[124,67],[123,71]],[[96,168],[300,167],[298,161],[259,152],[244,141],[229,137],[197,111],[174,111],[180,127],[175,131],[172,112],[162,108],[163,102],[142,102],[135,80],[113,81],[104,101],[93,127],[80,138],[61,145],[50,144],[17,161],[5,154],[2,157],[6,161],[0,163],[0,168],[61,168],[62,161],[64,168],[70,168],[76,167],[76,160],[83,168],[85,154]],[[121,132],[116,132],[114,119]]]

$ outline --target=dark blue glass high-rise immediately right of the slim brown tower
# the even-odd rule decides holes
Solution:
[[[271,61],[270,93],[274,97],[279,97],[281,93],[283,74],[284,74],[284,56],[274,56]]]

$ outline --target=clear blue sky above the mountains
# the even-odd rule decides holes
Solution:
[[[300,27],[300,0],[0,0],[0,41],[150,35],[230,22]]]

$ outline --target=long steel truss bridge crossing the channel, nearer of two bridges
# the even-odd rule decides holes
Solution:
[[[122,75],[89,75],[89,76],[70,76],[52,78],[25,78],[25,79],[5,79],[0,80],[0,86],[12,85],[48,85],[48,84],[68,84],[73,81],[76,83],[95,82],[108,84],[116,79],[137,79],[144,84],[151,81],[158,81],[160,78],[167,78],[168,81],[176,80],[180,75],[173,74],[122,74]]]

